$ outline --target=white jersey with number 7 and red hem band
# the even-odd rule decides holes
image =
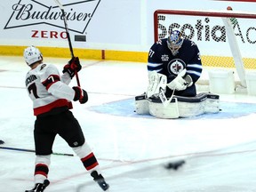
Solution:
[[[51,64],[42,63],[29,70],[25,83],[33,100],[34,115],[51,112],[54,108],[72,108],[75,91],[68,86],[70,82],[68,73],[60,76],[58,68]]]

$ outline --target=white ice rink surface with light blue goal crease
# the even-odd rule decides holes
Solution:
[[[60,71],[68,59],[44,58]],[[156,119],[134,113],[145,92],[145,63],[81,60],[88,103],[73,114],[97,156],[111,192],[256,192],[256,96],[220,95],[219,114]],[[3,147],[34,149],[29,70],[21,57],[0,60],[0,140]],[[205,75],[205,74],[204,74]],[[204,76],[202,76],[203,78]],[[70,84],[76,85],[76,78]],[[73,154],[57,136],[53,151]],[[183,159],[178,171],[165,164]],[[35,154],[0,148],[0,191],[34,186]],[[52,155],[45,192],[100,192],[77,156]]]

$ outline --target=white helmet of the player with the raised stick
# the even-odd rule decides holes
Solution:
[[[23,52],[23,57],[28,66],[34,64],[39,60],[43,60],[43,55],[35,46],[29,46]]]

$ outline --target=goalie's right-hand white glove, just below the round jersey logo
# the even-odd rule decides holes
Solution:
[[[191,86],[193,84],[193,80],[191,76],[186,75],[186,69],[183,69],[176,78],[172,80],[167,86],[171,90],[177,90],[177,91],[183,91],[187,89],[187,87]],[[185,76],[186,75],[186,76]]]

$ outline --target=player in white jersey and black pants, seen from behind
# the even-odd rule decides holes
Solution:
[[[36,166],[34,172],[35,187],[26,192],[43,192],[50,184],[48,180],[51,163],[52,145],[57,134],[66,140],[68,146],[79,156],[84,168],[91,173],[104,191],[109,186],[101,175],[100,165],[85,142],[84,133],[69,110],[72,100],[84,104],[88,100],[87,92],[79,86],[69,87],[75,73],[82,67],[77,57],[72,58],[63,68],[60,76],[58,68],[43,62],[43,55],[35,46],[24,50],[24,59],[30,70],[26,76],[26,88],[33,101],[36,122],[34,140],[36,148]],[[66,164],[63,164],[65,167]]]

